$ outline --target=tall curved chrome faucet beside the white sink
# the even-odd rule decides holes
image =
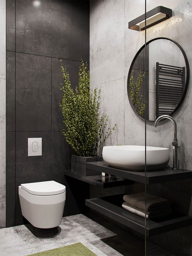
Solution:
[[[155,121],[154,127],[157,127],[158,122],[164,118],[170,119],[174,124],[174,139],[172,142],[172,146],[173,146],[173,168],[172,169],[179,170],[178,168],[178,148],[179,147],[178,147],[178,140],[177,140],[177,123],[175,119],[168,115],[159,116]]]

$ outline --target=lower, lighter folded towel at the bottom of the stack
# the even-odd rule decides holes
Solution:
[[[132,213],[135,213],[136,215],[139,215],[143,218],[145,218],[145,211],[144,210],[141,210],[133,205],[130,205],[126,202],[124,202],[122,204],[122,207],[129,211],[129,212],[132,212]],[[159,218],[159,217],[164,217],[164,216],[167,216],[169,215],[170,213],[172,212],[172,209],[170,207],[166,207],[162,210],[158,210],[158,211],[152,211],[152,212],[146,212],[146,218],[147,219],[154,219],[154,218]]]

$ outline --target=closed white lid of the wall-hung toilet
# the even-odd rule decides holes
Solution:
[[[65,192],[65,186],[56,181],[21,184],[21,188],[32,195],[57,195]]]

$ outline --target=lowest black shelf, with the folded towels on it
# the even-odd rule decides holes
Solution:
[[[122,208],[123,194],[85,200],[85,205],[125,226],[145,235],[145,218]],[[191,216],[179,212],[146,220],[146,235],[154,236],[191,225]]]

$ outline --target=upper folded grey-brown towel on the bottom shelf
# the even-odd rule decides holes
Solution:
[[[145,193],[137,193],[132,195],[124,195],[123,200],[130,205],[145,210]],[[170,207],[171,203],[162,197],[146,193],[146,210],[148,212],[157,211],[165,207]]]

